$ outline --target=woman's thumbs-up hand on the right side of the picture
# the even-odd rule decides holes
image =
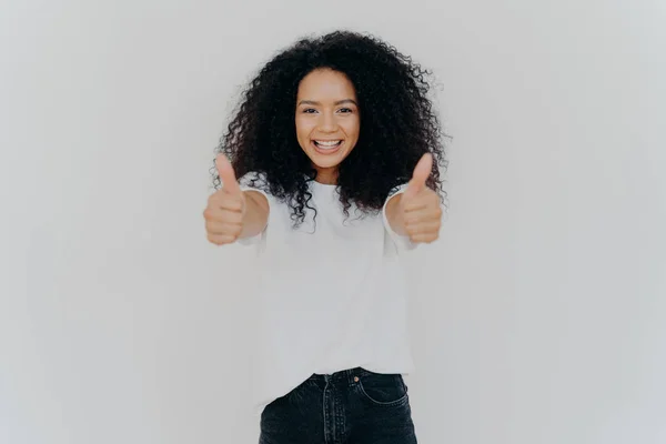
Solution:
[[[407,189],[389,213],[392,215],[390,222],[393,219],[391,224],[395,225],[394,230],[410,236],[414,243],[431,243],[440,238],[442,225],[440,196],[425,184],[432,169],[432,154],[423,155],[414,169]]]

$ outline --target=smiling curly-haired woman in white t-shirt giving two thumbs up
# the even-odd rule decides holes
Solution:
[[[441,225],[426,74],[373,37],[304,39],[252,80],[222,138],[205,226],[258,248],[261,443],[416,442],[398,260]]]

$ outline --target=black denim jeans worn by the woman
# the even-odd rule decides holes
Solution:
[[[401,375],[363,369],[313,375],[269,404],[260,444],[416,443]]]

